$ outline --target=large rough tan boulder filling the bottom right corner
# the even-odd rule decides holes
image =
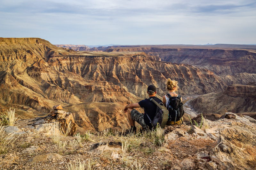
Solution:
[[[227,115],[231,113],[227,113]],[[232,113],[234,119],[220,119],[220,143],[210,157],[222,169],[256,169],[256,128],[244,116]],[[228,120],[228,121],[227,121]],[[243,161],[241,161],[243,160]]]

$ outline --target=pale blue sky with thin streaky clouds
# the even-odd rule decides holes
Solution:
[[[0,37],[52,44],[256,44],[255,0],[0,0]]]

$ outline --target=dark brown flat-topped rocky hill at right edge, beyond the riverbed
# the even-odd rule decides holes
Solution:
[[[190,101],[199,113],[220,114],[226,112],[256,112],[255,82],[249,85],[230,85],[224,92],[209,93]]]

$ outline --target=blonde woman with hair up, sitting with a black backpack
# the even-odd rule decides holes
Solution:
[[[177,90],[178,82],[168,78],[167,90],[168,94],[163,97],[163,103],[169,110],[169,119],[166,125],[182,124],[184,115],[182,98],[175,91]]]

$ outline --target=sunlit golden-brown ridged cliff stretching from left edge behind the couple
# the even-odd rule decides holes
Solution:
[[[179,82],[182,95],[220,92],[227,86],[209,70],[163,62],[145,52],[74,51],[38,38],[0,38],[0,42],[1,105],[18,109],[24,118],[45,115],[54,105],[72,105],[68,107],[72,113],[88,105],[96,111],[89,115],[90,109],[81,109],[75,116],[80,127],[126,128],[127,122],[119,121],[126,120],[120,110],[147,98],[148,85],[156,85],[159,98],[166,93],[167,78]],[[103,114],[102,102],[109,115]],[[102,123],[96,121],[99,117]]]

